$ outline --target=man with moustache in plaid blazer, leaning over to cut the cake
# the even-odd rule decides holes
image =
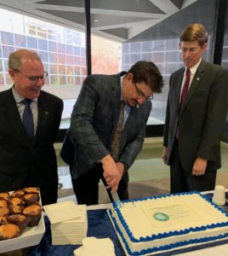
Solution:
[[[162,76],[154,63],[148,61],[135,63],[128,73],[91,75],[85,79],[66,137],[73,150],[68,161],[79,204],[98,203],[100,178],[107,189],[117,190],[121,200],[128,199],[128,168],[144,142],[145,125],[151,113],[150,97],[161,88]],[[122,102],[123,133],[114,160],[111,148]],[[61,154],[69,156],[71,149],[66,143]]]

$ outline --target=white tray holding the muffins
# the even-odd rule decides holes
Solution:
[[[41,200],[40,200],[40,205]],[[27,227],[26,230],[18,237],[0,241],[0,253],[14,251],[24,247],[31,247],[37,245],[45,232],[45,224],[43,219],[43,212],[39,223],[35,227]]]

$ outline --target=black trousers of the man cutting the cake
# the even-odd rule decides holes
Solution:
[[[78,204],[86,204],[88,206],[98,204],[100,178],[106,186],[105,178],[103,177],[102,165],[97,164],[83,176],[72,179],[72,186],[74,193],[77,196]],[[110,201],[112,202],[113,198],[111,196],[111,189],[107,189],[107,193]],[[117,193],[120,200],[128,199],[128,183],[126,183],[123,178],[118,185]]]

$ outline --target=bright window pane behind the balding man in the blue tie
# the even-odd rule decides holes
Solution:
[[[8,74],[9,54],[20,48],[36,50],[49,73],[45,81],[48,91],[64,100],[63,117],[66,121],[63,124],[66,128],[87,75],[84,33],[3,9],[0,9],[0,17],[3,18],[0,23],[0,90],[12,84]],[[43,90],[46,90],[45,85]]]

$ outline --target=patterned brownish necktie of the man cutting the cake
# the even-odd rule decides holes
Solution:
[[[113,141],[111,143],[111,155],[116,162],[119,159],[119,154],[120,154],[120,140],[122,137],[123,122],[124,122],[124,106],[125,106],[125,103],[122,101],[120,106],[120,115],[119,115],[119,122],[117,124],[117,130],[115,132]]]

